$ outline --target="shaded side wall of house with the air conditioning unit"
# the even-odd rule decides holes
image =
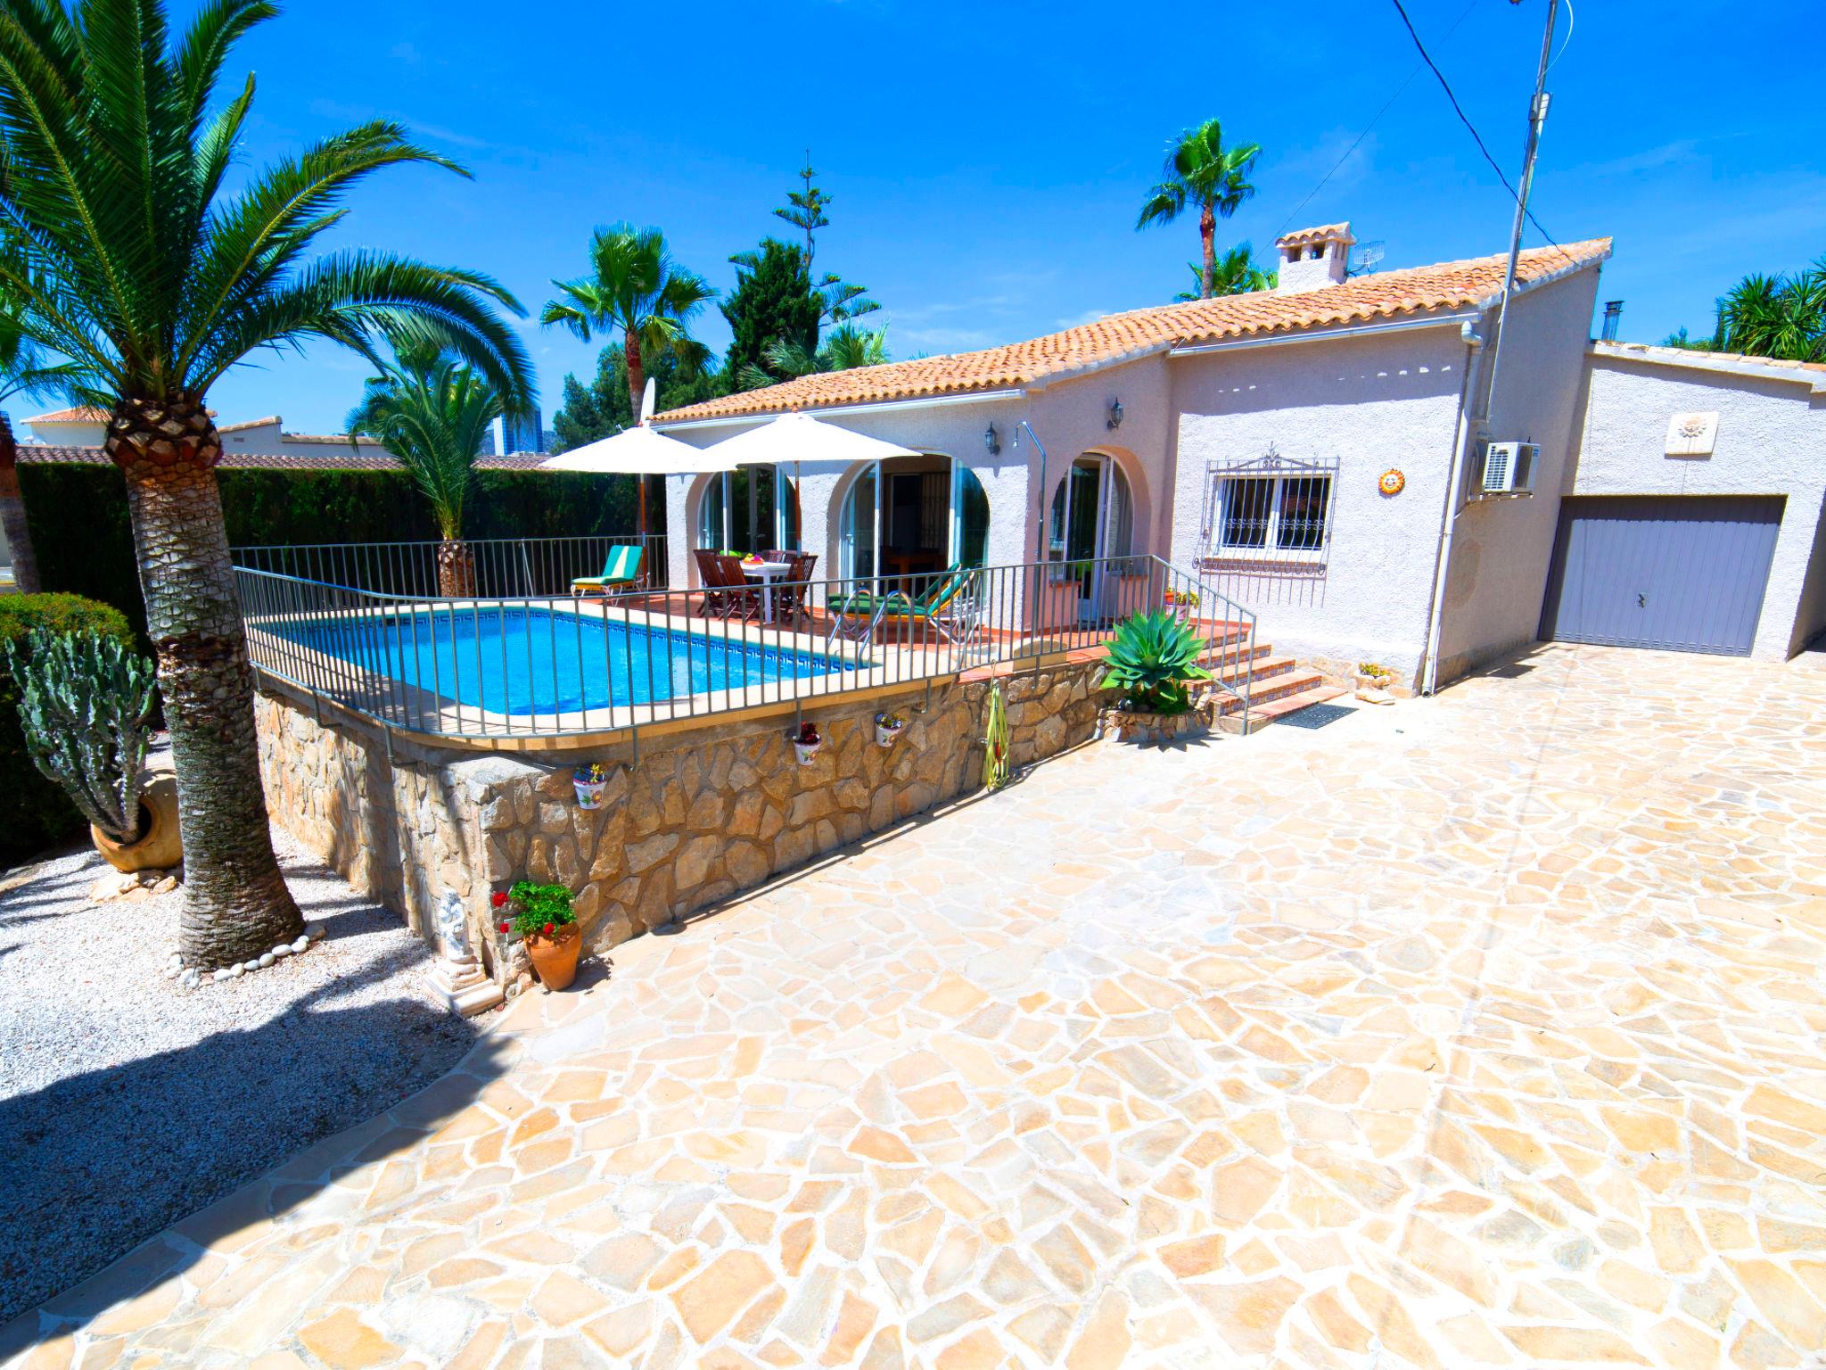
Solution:
[[[1527,647],[1539,634],[1596,292],[1598,272],[1581,270],[1510,301],[1508,342],[1490,396],[1490,437],[1536,442],[1541,457],[1532,495],[1472,501],[1459,515],[1439,628],[1441,681]],[[1483,332],[1495,336],[1494,314]],[[1488,356],[1479,362],[1488,365]]]

